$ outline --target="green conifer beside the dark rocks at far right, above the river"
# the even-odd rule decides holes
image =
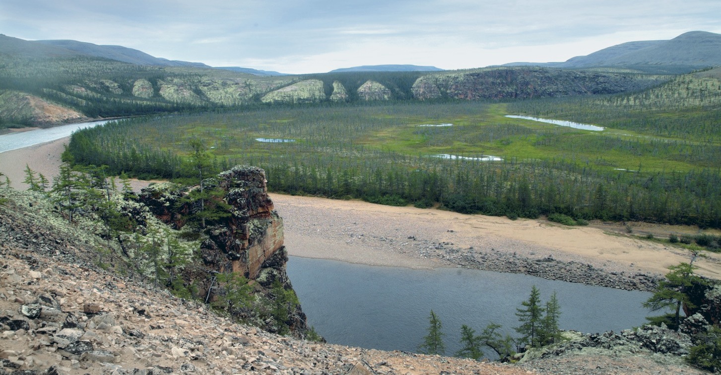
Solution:
[[[672,265],[665,274],[665,280],[659,281],[653,295],[644,302],[643,306],[653,311],[673,309],[673,320],[666,324],[676,327],[681,323],[681,307],[689,309],[696,307],[691,296],[698,293],[700,288],[708,284],[704,278],[694,273],[696,267],[693,263]]]

